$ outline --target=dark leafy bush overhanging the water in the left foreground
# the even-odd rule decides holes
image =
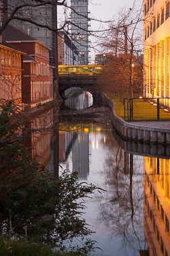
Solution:
[[[84,203],[78,203],[96,187],[80,183],[77,172],[63,171],[58,180],[31,159],[20,136],[13,102],[0,114],[0,233],[14,238],[33,238],[65,250],[65,241],[83,242],[92,231],[82,218]],[[18,118],[18,115],[17,117]],[[84,248],[92,248],[87,240]],[[83,247],[83,246],[82,246]],[[82,255],[86,255],[85,253]]]

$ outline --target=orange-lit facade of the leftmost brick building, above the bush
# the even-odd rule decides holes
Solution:
[[[1,73],[0,73],[0,99],[14,100],[22,106],[22,58],[24,53],[12,45],[2,42],[0,44]]]

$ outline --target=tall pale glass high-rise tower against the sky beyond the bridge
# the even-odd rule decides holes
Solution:
[[[71,37],[80,52],[80,65],[88,65],[88,0],[71,0]]]

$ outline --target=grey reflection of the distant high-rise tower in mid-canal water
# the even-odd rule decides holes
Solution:
[[[80,179],[86,179],[89,174],[89,134],[79,132],[73,149],[73,171],[78,171]]]

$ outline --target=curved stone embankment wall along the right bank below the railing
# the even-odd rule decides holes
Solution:
[[[112,109],[114,129],[127,141],[170,144],[170,122],[125,122],[116,114],[115,104],[105,94],[101,94],[102,104]]]

